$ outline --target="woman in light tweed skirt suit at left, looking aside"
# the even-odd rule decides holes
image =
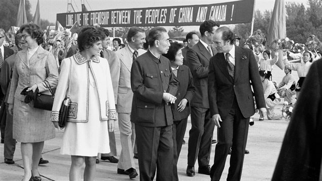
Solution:
[[[50,112],[33,107],[33,101],[24,103],[23,89],[51,95],[45,81],[55,88],[58,82],[58,67],[52,53],[44,50],[44,32],[35,24],[20,27],[28,49],[16,55],[8,111],[13,114],[13,138],[21,142],[21,155],[26,180],[41,180],[38,163],[44,148],[44,141],[55,137],[54,126],[50,122]]]

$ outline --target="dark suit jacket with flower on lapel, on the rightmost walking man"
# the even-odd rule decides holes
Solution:
[[[260,80],[258,65],[252,50],[235,46],[235,76],[229,76],[224,53],[217,53],[210,59],[208,76],[208,95],[210,114],[219,114],[222,119],[228,115],[236,97],[244,118],[255,114],[252,81],[256,105],[266,107],[264,91]]]

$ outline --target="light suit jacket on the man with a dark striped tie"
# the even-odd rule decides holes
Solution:
[[[138,55],[144,54],[145,50],[138,49]],[[121,64],[120,79],[118,85],[118,96],[116,111],[118,113],[131,113],[133,92],[131,90],[131,67],[133,62],[133,52],[128,45],[116,52]]]

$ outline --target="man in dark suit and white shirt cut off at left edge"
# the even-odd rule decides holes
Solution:
[[[6,31],[4,29],[0,28],[0,71],[1,71],[1,68],[2,68],[6,58],[8,58],[12,54],[14,54],[13,50],[4,46],[5,40],[6,40]],[[2,89],[3,88],[1,88],[1,86],[0,86],[0,90],[2,90]],[[0,91],[1,107],[5,107],[5,103],[3,102],[4,98],[5,98],[5,94],[2,91]],[[4,143],[4,138],[5,138],[5,128],[6,128],[6,116],[5,116],[6,114],[5,114],[5,112],[6,112],[5,108],[2,108],[0,110],[1,143]]]

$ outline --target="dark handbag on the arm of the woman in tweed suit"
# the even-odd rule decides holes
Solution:
[[[33,107],[39,108],[41,110],[51,111],[53,108],[55,93],[51,89],[51,86],[47,81],[44,81],[44,83],[46,84],[46,87],[49,89],[51,95],[37,93],[33,100]]]

